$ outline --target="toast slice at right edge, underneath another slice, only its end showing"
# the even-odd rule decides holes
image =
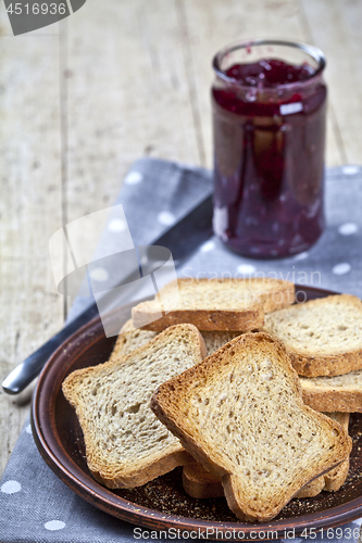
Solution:
[[[362,369],[333,377],[300,377],[303,401],[315,411],[362,413]]]

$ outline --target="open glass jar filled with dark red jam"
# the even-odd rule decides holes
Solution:
[[[305,251],[324,228],[323,53],[261,40],[213,65],[215,233],[255,258]]]

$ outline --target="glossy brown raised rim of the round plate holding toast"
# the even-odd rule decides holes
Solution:
[[[327,295],[336,295],[339,292],[309,287],[305,285],[296,285],[296,290],[308,290],[316,294],[315,298],[325,298]],[[130,308],[140,303],[142,300],[130,302],[122,306],[122,311],[126,315],[129,313]],[[126,321],[127,317],[125,316]],[[62,451],[54,451],[54,443],[60,441],[57,427],[52,424],[46,424],[43,417],[39,414],[41,409],[41,403],[45,401],[42,397],[42,391],[47,379],[51,375],[51,369],[54,369],[54,361],[61,356],[61,353],[67,344],[76,342],[80,345],[82,337],[93,334],[93,341],[90,341],[84,345],[83,350],[76,352],[77,356],[82,354],[84,350],[88,350],[93,343],[99,341],[99,336],[95,333],[101,327],[101,319],[99,316],[91,319],[89,323],[76,330],[70,338],[67,338],[54,353],[50,356],[47,364],[45,365],[36,389],[33,394],[32,409],[30,409],[30,424],[35,443],[37,445],[40,455],[52,469],[52,471],[64,482],[73,492],[79,495],[83,500],[91,503],[97,508],[112,515],[113,517],[120,518],[127,522],[130,522],[137,527],[149,528],[153,530],[164,530],[164,529],[179,529],[183,531],[195,531],[201,530],[217,530],[216,535],[219,538],[212,539],[225,539],[225,532],[234,531],[234,533],[244,532],[244,541],[261,541],[260,538],[251,536],[251,533],[266,533],[277,531],[277,539],[282,539],[285,535],[285,530],[295,530],[295,535],[300,535],[303,530],[310,530],[311,528],[319,530],[336,528],[346,522],[355,520],[362,516],[362,496],[355,497],[350,502],[337,505],[330,509],[325,509],[319,513],[312,513],[310,515],[303,515],[300,517],[290,517],[286,519],[272,520],[270,522],[251,523],[251,522],[229,522],[220,520],[201,520],[191,517],[184,517],[179,515],[172,515],[168,513],[162,513],[158,509],[150,509],[142,505],[138,505],[134,502],[125,500],[111,490],[102,487],[96,480],[93,480],[88,473],[83,471],[80,467],[66,453],[63,454]],[[72,357],[68,358],[67,368],[72,367]],[[61,383],[58,383],[58,390]],[[53,388],[52,388],[53,391]],[[52,394],[51,408],[54,408],[55,396]],[[49,422],[49,421],[48,421]],[[51,437],[49,442],[49,437]],[[63,449],[63,451],[65,451]],[[65,456],[65,457],[64,457]],[[210,539],[210,538],[209,538]],[[265,540],[262,538],[262,540]]]

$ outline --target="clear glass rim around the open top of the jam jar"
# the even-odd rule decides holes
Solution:
[[[283,39],[274,39],[274,38],[262,38],[262,39],[249,39],[249,40],[242,40],[242,41],[237,41],[234,42],[229,46],[224,47],[221,49],[213,58],[212,61],[212,67],[214,68],[214,72],[216,75],[221,78],[224,79],[224,81],[227,83],[233,83],[234,85],[237,85],[240,88],[245,89],[250,89],[251,86],[249,85],[244,85],[241,84],[238,79],[235,77],[228,76],[225,72],[222,71],[221,66],[221,61],[223,58],[233,51],[236,51],[237,49],[247,49],[248,47],[253,47],[253,46],[286,46],[286,47],[292,47],[296,49],[301,49],[302,51],[307,52],[312,59],[314,59],[317,62],[317,68],[313,74],[308,76],[303,81],[294,81],[294,83],[284,83],[278,85],[278,88],[285,88],[285,89],[290,89],[296,86],[300,86],[302,84],[307,84],[311,80],[313,80],[315,77],[317,77],[323,70],[326,66],[326,60],[324,56],[324,53],[321,51],[315,46],[310,46],[308,43],[304,43],[302,41],[290,41],[290,40],[283,40]]]

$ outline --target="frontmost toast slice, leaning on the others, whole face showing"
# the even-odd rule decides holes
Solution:
[[[285,346],[246,333],[159,387],[151,408],[222,479],[241,520],[267,521],[307,483],[347,458],[351,439],[302,402]]]

